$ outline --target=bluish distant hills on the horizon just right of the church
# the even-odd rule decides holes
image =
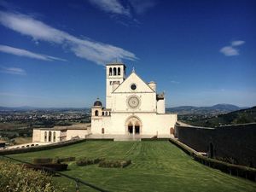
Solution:
[[[181,106],[177,108],[166,108],[169,113],[177,113],[180,115],[185,114],[212,114],[218,115],[221,113],[229,113],[232,111],[240,110],[244,108],[239,108],[236,105],[230,104],[217,104],[212,107],[194,107],[194,106]]]

